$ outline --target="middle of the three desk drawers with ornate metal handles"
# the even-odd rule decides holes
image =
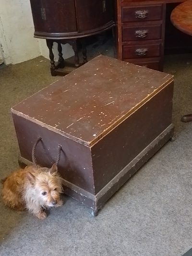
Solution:
[[[153,40],[161,39],[162,26],[150,25],[150,26],[135,26],[127,27],[123,25],[122,27],[122,41],[142,41],[142,40]]]

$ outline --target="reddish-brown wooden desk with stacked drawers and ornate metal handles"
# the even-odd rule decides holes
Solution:
[[[166,4],[183,0],[117,0],[118,59],[163,70]]]

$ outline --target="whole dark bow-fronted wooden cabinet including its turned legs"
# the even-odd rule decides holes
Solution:
[[[30,0],[33,14],[34,37],[47,40],[51,74],[60,72],[66,62],[61,44],[69,43],[74,50],[73,66],[87,61],[84,37],[96,35],[115,25],[114,0]],[[53,42],[58,43],[59,62],[54,61]],[[83,63],[79,61],[78,45],[82,45]],[[69,63],[68,63],[69,64]]]

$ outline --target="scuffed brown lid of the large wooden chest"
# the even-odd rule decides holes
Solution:
[[[12,108],[12,113],[91,146],[173,80],[103,55]]]

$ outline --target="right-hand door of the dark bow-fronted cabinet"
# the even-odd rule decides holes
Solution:
[[[114,0],[75,0],[75,2],[79,32],[94,30],[114,20]]]

